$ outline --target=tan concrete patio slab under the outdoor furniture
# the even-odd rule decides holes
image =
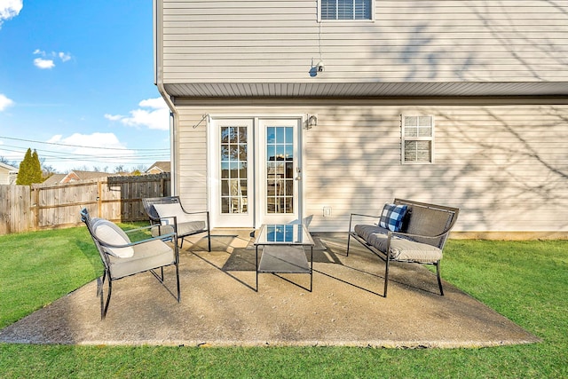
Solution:
[[[419,265],[392,265],[383,297],[383,261],[357,243],[345,257],[346,235],[319,234],[326,249],[314,251],[312,292],[309,275],[268,273],[256,292],[248,232],[216,234],[212,252],[203,239],[185,243],[179,304],[150,273],[139,274],[114,282],[100,320],[93,281],[0,330],[0,342],[458,348],[540,341],[447,282],[439,296],[434,273]],[[166,271],[170,288],[173,278]]]

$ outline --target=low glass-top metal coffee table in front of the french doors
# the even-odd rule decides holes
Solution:
[[[309,273],[313,285],[313,240],[305,225],[264,224],[256,237],[256,291],[259,273]],[[310,262],[304,247],[310,247]],[[258,250],[262,256],[258,260]],[[307,289],[307,288],[306,288]]]

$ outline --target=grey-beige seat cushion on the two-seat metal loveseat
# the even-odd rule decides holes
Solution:
[[[372,233],[367,242],[386,253],[388,244],[386,233]],[[442,259],[442,250],[427,243],[392,237],[390,239],[390,258],[398,261],[433,263]]]

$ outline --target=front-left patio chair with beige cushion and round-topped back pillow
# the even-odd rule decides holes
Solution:
[[[151,272],[172,296],[180,301],[179,292],[179,250],[177,243],[173,248],[162,241],[165,238],[175,240],[176,233],[147,238],[142,241],[130,241],[128,233],[144,233],[151,226],[122,231],[118,225],[104,218],[91,218],[87,209],[81,210],[81,219],[91,233],[91,238],[99,250],[99,256],[105,266],[105,272],[97,280],[97,296],[100,296],[100,318],[105,319],[112,295],[113,280],[119,280],[140,272]],[[164,283],[163,268],[173,265],[176,269],[177,296]],[[156,272],[160,269],[160,273]],[[108,295],[103,300],[103,285],[108,280]]]

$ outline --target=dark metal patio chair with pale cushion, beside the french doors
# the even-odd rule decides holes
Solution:
[[[209,251],[211,251],[209,211],[187,212],[181,205],[179,196],[145,198],[142,199],[142,204],[150,218],[150,224],[153,225],[153,236],[175,232],[181,249],[185,237],[207,233]]]

